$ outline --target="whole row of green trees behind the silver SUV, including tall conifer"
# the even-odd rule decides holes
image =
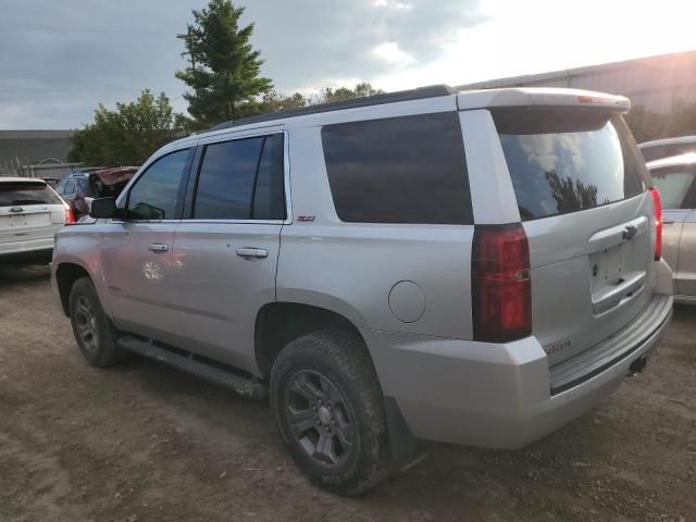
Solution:
[[[243,26],[243,13],[232,0],[210,0],[192,11],[194,22],[179,35],[188,66],[175,76],[189,89],[183,95],[189,115],[176,114],[164,92],[156,96],[149,89],[113,110],[100,103],[94,122],[71,138],[69,160],[137,165],[172,139],[220,122],[383,92],[369,83],[326,87],[309,96],[279,92],[261,75],[263,59],[250,42],[253,24]]]

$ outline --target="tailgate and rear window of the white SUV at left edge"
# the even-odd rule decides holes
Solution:
[[[60,197],[42,181],[0,179],[0,244],[52,238],[65,221]]]

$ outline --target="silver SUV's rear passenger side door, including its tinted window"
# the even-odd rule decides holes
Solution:
[[[256,316],[275,300],[286,217],[284,136],[201,147],[188,219],[174,235],[182,325],[191,351],[253,371]]]

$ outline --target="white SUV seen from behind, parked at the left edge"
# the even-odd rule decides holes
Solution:
[[[49,263],[72,210],[42,179],[0,177],[0,264]]]

